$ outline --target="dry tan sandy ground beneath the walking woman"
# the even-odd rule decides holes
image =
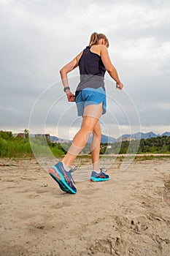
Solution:
[[[0,255],[169,256],[170,158],[120,162],[69,195],[35,159],[0,159]]]

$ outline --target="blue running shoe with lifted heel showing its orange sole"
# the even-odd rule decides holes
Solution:
[[[76,194],[77,189],[76,187],[74,187],[74,180],[71,174],[75,170],[77,170],[77,167],[74,167],[74,169],[66,171],[63,167],[63,163],[58,162],[53,167],[50,167],[48,173],[58,183],[61,190],[70,194]]]

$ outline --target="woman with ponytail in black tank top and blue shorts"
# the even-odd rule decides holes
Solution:
[[[71,168],[72,162],[85,147],[90,135],[93,133],[91,142],[91,155],[93,170],[90,181],[107,181],[109,176],[102,171],[99,166],[99,153],[101,143],[101,126],[99,119],[106,113],[106,91],[104,88],[104,75],[107,71],[116,82],[117,89],[123,89],[123,83],[117,75],[117,71],[109,59],[107,48],[109,41],[104,34],[91,34],[89,45],[82,50],[71,62],[66,64],[61,70],[63,91],[66,92],[69,102],[76,102],[78,116],[82,116],[82,125],[79,132],[74,136],[72,146],[63,157],[53,167],[50,167],[49,174],[59,187],[71,194],[77,192],[74,187]],[[69,88],[67,74],[76,67],[80,69],[80,83],[77,86],[75,95]]]

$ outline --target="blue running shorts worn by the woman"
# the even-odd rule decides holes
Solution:
[[[77,114],[78,116],[83,116],[84,109],[88,105],[93,104],[100,104],[103,102],[103,113],[107,112],[107,97],[106,97],[106,91],[102,87],[99,87],[98,89],[93,88],[85,88],[82,89],[82,91],[79,92],[76,99],[76,105],[77,105]]]

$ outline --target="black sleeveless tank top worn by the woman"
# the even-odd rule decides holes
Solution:
[[[101,60],[101,56],[97,53],[92,53],[89,46],[83,50],[82,56],[79,60],[79,69],[80,83],[77,86],[76,94],[78,94],[82,89],[88,87],[94,89],[102,87],[105,91],[104,75],[106,69],[103,61]]]

